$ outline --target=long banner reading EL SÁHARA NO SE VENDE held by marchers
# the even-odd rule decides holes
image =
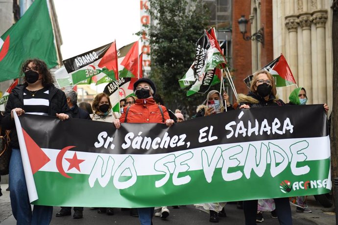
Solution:
[[[170,128],[15,114],[30,202],[132,208],[329,193],[323,106],[265,108]]]

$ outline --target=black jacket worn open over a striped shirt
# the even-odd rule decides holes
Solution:
[[[11,130],[11,146],[12,148],[19,148],[18,135],[15,129],[15,122],[11,119],[11,111],[15,108],[24,110],[24,89],[27,85],[18,85],[8,96],[6,110],[1,120],[1,128],[4,130]],[[62,90],[59,90],[51,85],[48,87],[49,94],[49,108],[48,115],[56,116],[56,113],[66,113],[72,117],[72,113],[67,105],[66,95]]]

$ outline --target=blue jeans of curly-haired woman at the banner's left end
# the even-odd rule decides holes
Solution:
[[[20,149],[12,149],[9,162],[9,183],[12,212],[18,225],[48,225],[53,214],[52,206],[34,205],[30,207],[24,167]]]

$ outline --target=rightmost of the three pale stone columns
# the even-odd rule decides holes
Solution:
[[[316,25],[316,46],[317,46],[317,71],[313,71],[313,76],[317,76],[318,81],[318,103],[325,103],[326,96],[326,51],[325,51],[325,23],[327,21],[327,11],[318,10],[313,12],[311,21]],[[313,84],[315,85],[315,84]]]

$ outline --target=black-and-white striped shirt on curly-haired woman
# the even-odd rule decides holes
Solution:
[[[49,90],[43,88],[37,91],[24,89],[24,112],[36,115],[48,115]]]

